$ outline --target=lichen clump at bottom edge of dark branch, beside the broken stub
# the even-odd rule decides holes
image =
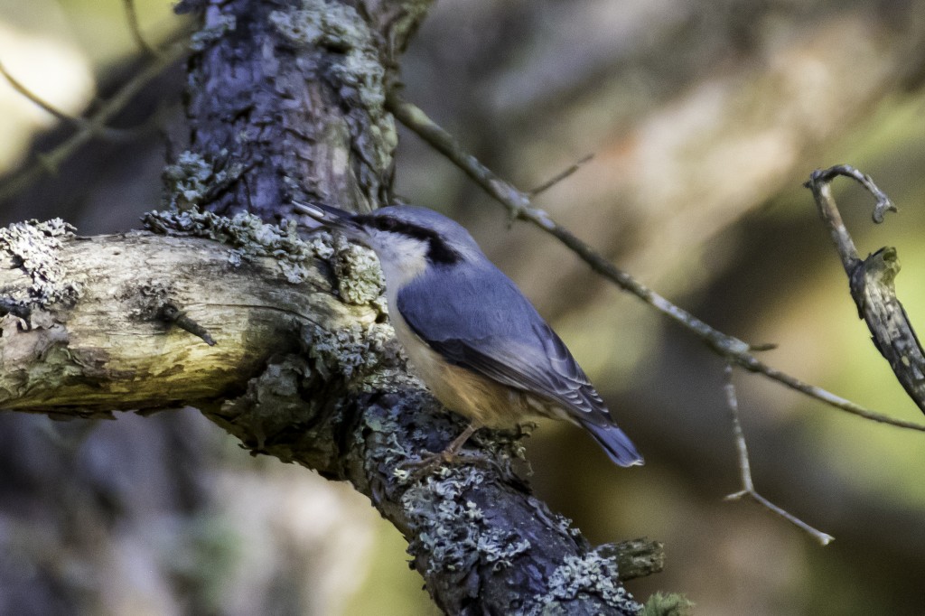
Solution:
[[[565,557],[549,576],[549,592],[534,598],[539,606],[535,613],[566,613],[562,611],[561,601],[571,601],[582,595],[601,598],[623,612],[642,610],[620,584],[616,560],[588,552],[584,557]]]

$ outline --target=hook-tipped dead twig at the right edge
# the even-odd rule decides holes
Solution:
[[[874,346],[890,363],[909,398],[925,412],[925,351],[903,303],[896,297],[894,280],[899,273],[896,249],[882,248],[863,260],[857,255],[855,242],[845,228],[832,196],[832,181],[838,176],[856,179],[874,196],[877,200],[872,216],[874,223],[881,223],[886,212],[895,212],[896,206],[869,176],[853,166],[839,165],[816,170],[806,183],[845,267],[857,314],[867,323]]]

